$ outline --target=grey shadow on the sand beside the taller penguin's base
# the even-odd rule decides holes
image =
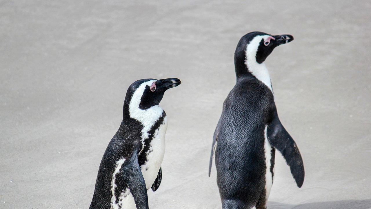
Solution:
[[[371,209],[371,199],[313,202],[299,205],[268,202],[267,209]]]

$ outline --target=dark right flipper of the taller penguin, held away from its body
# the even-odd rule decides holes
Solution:
[[[304,181],[304,165],[298,146],[290,134],[283,128],[278,114],[275,111],[272,122],[267,128],[267,139],[285,158],[286,163],[290,166],[292,176],[296,185],[301,187]]]

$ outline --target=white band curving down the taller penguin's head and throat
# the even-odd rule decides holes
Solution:
[[[245,65],[247,67],[247,70],[251,74],[253,74],[258,80],[260,80],[263,84],[265,84],[273,93],[272,83],[270,81],[270,76],[267,67],[265,66],[264,62],[259,64],[256,61],[256,52],[261,40],[262,36],[257,36],[249,44],[247,44],[245,51],[246,54]]]

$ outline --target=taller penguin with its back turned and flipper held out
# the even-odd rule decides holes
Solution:
[[[304,181],[299,149],[281,124],[264,61],[291,35],[250,32],[237,44],[237,82],[223,103],[213,136],[213,158],[223,209],[266,209],[274,177],[275,151],[283,155],[298,187]]]

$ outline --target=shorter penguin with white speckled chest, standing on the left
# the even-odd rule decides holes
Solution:
[[[129,87],[124,117],[103,155],[90,209],[148,209],[147,190],[157,190],[165,152],[167,116],[158,105],[178,78],[142,79]]]

